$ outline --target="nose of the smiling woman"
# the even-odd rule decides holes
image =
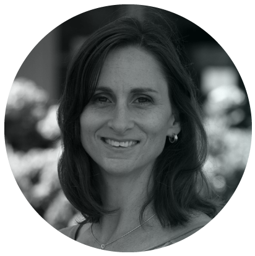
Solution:
[[[125,131],[134,128],[132,113],[126,104],[116,104],[115,110],[111,113],[108,121],[108,126],[119,134],[124,134]]]

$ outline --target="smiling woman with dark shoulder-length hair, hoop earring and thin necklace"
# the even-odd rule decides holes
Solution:
[[[167,32],[123,17],[94,32],[67,71],[58,110],[59,179],[90,247],[142,252],[181,241],[217,214],[202,174],[195,88]]]

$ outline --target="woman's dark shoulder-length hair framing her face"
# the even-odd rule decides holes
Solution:
[[[63,147],[58,174],[67,199],[84,216],[82,224],[98,222],[110,211],[103,207],[92,159],[81,143],[80,115],[92,99],[106,56],[124,46],[139,47],[160,63],[168,82],[171,107],[181,125],[178,141],[171,144],[166,139],[155,161],[150,177],[153,187],[140,211],[140,221],[150,203],[163,227],[187,223],[192,211],[202,211],[211,218],[218,212],[217,200],[202,171],[207,135],[196,86],[181,63],[171,32],[170,25],[165,28],[151,20],[121,17],[92,33],[69,64],[58,108]]]

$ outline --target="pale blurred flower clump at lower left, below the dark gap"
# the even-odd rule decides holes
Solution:
[[[14,151],[6,145],[7,157],[12,174],[32,205],[38,205],[54,190],[59,190],[58,158],[61,154],[60,145],[56,148],[30,149],[27,153]]]

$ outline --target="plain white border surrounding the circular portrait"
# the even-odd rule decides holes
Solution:
[[[91,3],[93,2],[93,3]],[[101,1],[9,1],[1,4],[1,112],[6,107],[12,81],[25,57],[46,33],[64,20],[81,12],[105,6]],[[156,4],[157,2],[157,4]],[[227,51],[240,71],[254,112],[253,5],[250,1],[140,1],[183,15],[210,33]],[[166,2],[168,4],[166,4]],[[107,5],[124,4],[107,1]],[[130,1],[128,4],[137,4]],[[2,119],[3,120],[3,119]],[[4,131],[4,124],[1,126]],[[254,144],[254,143],[253,143]],[[20,193],[7,161],[4,141],[1,146],[1,221],[2,252],[24,255],[83,255],[97,253],[55,231],[38,216]],[[254,146],[243,179],[228,205],[204,229],[160,253],[172,255],[245,254],[253,245]],[[157,254],[155,250],[147,254]],[[110,254],[110,252],[103,252]]]

